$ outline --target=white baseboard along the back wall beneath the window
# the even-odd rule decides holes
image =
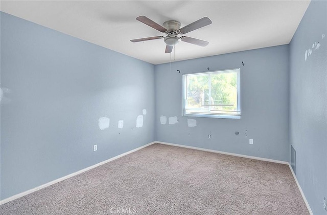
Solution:
[[[287,161],[279,161],[279,160],[273,160],[273,159],[268,159],[268,158],[260,158],[260,157],[241,155],[241,154],[235,154],[235,153],[227,153],[227,152],[221,152],[221,151],[213,150],[213,149],[199,148],[199,147],[195,147],[195,146],[179,145],[179,144],[175,144],[175,143],[167,143],[167,142],[160,142],[160,141],[156,141],[156,143],[165,144],[165,145],[173,145],[173,146],[178,146],[178,147],[183,147],[183,148],[192,148],[192,149],[197,149],[197,150],[201,150],[201,151],[205,151],[205,152],[219,153],[219,154],[223,154],[223,155],[231,155],[231,156],[249,158],[249,159],[254,159],[254,160],[268,161],[268,162],[281,163],[281,164],[289,164],[289,162],[287,162]]]

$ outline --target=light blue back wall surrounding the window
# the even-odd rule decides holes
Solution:
[[[156,65],[156,140],[288,161],[288,52],[285,45]],[[182,117],[182,74],[208,71],[207,67],[241,68],[242,117],[194,117],[197,126],[189,127],[190,117]],[[177,116],[179,122],[162,125],[161,115]]]

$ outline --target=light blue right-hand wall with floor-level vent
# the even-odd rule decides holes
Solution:
[[[327,1],[310,3],[290,43],[289,130],[296,178],[313,213],[327,214]]]

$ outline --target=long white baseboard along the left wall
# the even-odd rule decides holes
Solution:
[[[143,146],[140,146],[140,147],[138,147],[138,148],[132,149],[132,150],[126,152],[126,153],[120,154],[120,155],[115,156],[115,157],[113,157],[113,158],[110,158],[110,159],[108,159],[108,160],[105,160],[105,161],[102,161],[102,162],[97,163],[97,164],[95,164],[95,165],[92,165],[92,166],[86,167],[86,168],[84,168],[84,169],[81,169],[81,170],[79,170],[79,171],[77,171],[77,172],[75,172],[75,173],[72,173],[72,174],[69,174],[69,175],[67,175],[67,176],[61,177],[61,178],[59,178],[59,179],[53,180],[53,181],[48,182],[48,183],[46,183],[46,184],[42,184],[42,185],[40,185],[40,186],[34,187],[34,188],[32,188],[32,189],[29,189],[29,190],[27,190],[27,191],[24,191],[24,192],[18,193],[18,194],[16,194],[16,195],[12,196],[12,197],[9,197],[9,198],[7,198],[7,199],[1,200],[1,201],[0,201],[0,205],[5,204],[5,203],[7,203],[7,202],[10,202],[10,201],[12,201],[12,200],[18,199],[18,198],[20,198],[20,197],[24,197],[24,196],[26,196],[26,195],[28,195],[28,194],[30,194],[30,193],[32,193],[32,192],[35,192],[35,191],[37,191],[37,190],[40,190],[40,189],[42,189],[42,188],[44,188],[44,187],[48,187],[48,186],[50,186],[50,185],[53,185],[53,184],[55,184],[55,183],[58,183],[58,182],[60,182],[60,181],[65,180],[65,179],[68,179],[68,178],[74,177],[74,176],[76,176],[76,175],[78,175],[78,174],[84,173],[84,171],[90,170],[90,169],[95,168],[95,167],[98,167],[98,166],[100,166],[100,165],[102,165],[102,164],[105,164],[105,163],[108,163],[108,162],[113,161],[113,160],[115,160],[115,159],[121,158],[121,157],[123,157],[123,156],[125,156],[125,155],[128,155],[128,154],[130,154],[130,153],[136,152],[137,150],[142,149],[142,148],[145,148],[145,147],[147,147],[147,146],[149,146],[149,145],[152,145],[152,144],[154,144],[154,143],[156,143],[156,142],[148,143],[148,144],[146,144],[146,145],[143,145]]]

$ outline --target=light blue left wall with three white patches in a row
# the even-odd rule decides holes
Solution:
[[[154,65],[3,12],[1,88],[1,199],[155,140]]]

